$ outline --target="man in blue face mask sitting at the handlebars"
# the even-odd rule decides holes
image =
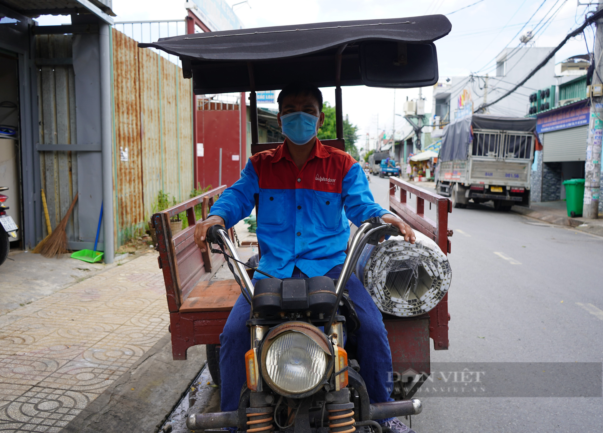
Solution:
[[[323,125],[323,96],[310,83],[293,83],[280,92],[279,114],[285,142],[247,161],[241,178],[216,201],[206,220],[197,223],[195,243],[205,252],[207,229],[230,228],[249,216],[257,196],[258,269],[276,278],[326,275],[337,278],[346,258],[351,220],[356,226],[380,217],[414,243],[411,227],[377,205],[361,165],[349,154],[317,139]],[[380,241],[384,239],[381,238]],[[266,278],[258,272],[253,284]],[[362,283],[352,275],[346,290],[362,326],[355,331],[357,360],[371,403],[390,401],[391,352],[382,316]],[[220,335],[221,410],[238,408],[245,382],[245,352],[250,305],[239,296]],[[412,432],[397,419],[378,421],[384,431]]]

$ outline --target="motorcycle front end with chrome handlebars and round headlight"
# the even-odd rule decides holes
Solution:
[[[212,248],[212,252],[225,255],[251,305],[247,382],[238,410],[191,414],[188,428],[352,433],[361,427],[381,433],[375,420],[420,413],[418,399],[369,402],[358,362],[349,358],[343,347],[346,317],[338,307],[349,305],[344,287],[364,246],[377,245],[382,235],[398,234],[395,226],[371,218],[356,231],[338,279],[265,278],[254,287],[226,230],[219,225],[209,228],[210,246],[217,244],[221,250]],[[235,262],[236,272],[229,259]]]

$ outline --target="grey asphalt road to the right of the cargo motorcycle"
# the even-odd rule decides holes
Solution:
[[[385,207],[388,179],[371,189]],[[432,361],[603,361],[603,238],[487,205],[453,209],[449,227],[450,349]],[[417,433],[603,431],[601,397],[421,399]]]

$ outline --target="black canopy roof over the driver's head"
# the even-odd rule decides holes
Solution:
[[[292,81],[335,86],[423,87],[437,83],[433,42],[450,32],[443,15],[274,26],[162,38],[153,47],[182,60],[197,94],[282,89]],[[251,83],[251,81],[254,83]]]

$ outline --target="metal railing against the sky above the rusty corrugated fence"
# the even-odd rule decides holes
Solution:
[[[118,21],[113,23],[113,28],[121,31],[126,36],[137,42],[156,42],[160,37],[180,36],[186,34],[186,20],[149,20],[149,21]],[[157,54],[165,57],[172,63],[182,67],[177,55],[168,54],[155,48],[150,48]]]

